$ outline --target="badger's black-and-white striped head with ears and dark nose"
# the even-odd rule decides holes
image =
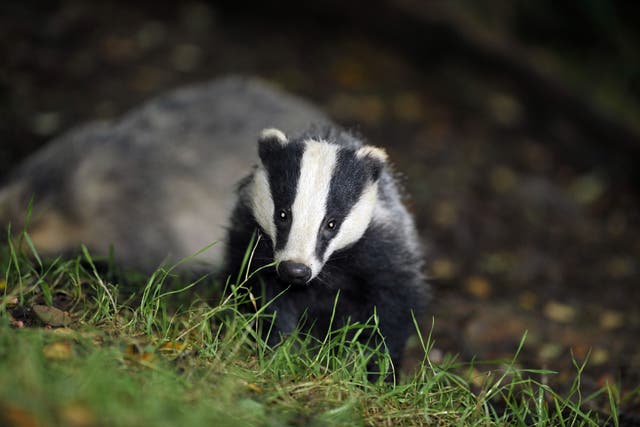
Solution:
[[[373,218],[386,153],[332,142],[289,140],[277,129],[260,135],[250,205],[287,283],[315,278],[331,254],[362,237]]]

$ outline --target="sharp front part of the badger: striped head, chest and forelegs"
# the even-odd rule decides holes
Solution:
[[[268,301],[268,342],[293,333],[302,319],[322,337],[331,321],[365,324],[375,315],[397,370],[426,284],[418,234],[387,154],[333,126],[291,137],[265,129],[258,153],[238,189],[226,272],[237,274],[257,232],[259,273],[248,286]],[[377,335],[362,339],[380,344]]]

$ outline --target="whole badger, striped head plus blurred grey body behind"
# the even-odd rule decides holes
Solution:
[[[385,152],[254,78],[177,89],[72,129],[0,188],[3,230],[25,226],[30,200],[41,256],[112,248],[118,267],[143,273],[224,241],[181,266],[236,275],[258,232],[254,267],[276,267],[249,285],[266,285],[272,344],[303,317],[325,333],[338,297],[334,324],[375,312],[397,368],[425,301],[418,235]]]

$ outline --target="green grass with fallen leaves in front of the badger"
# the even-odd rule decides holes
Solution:
[[[433,364],[428,335],[413,374],[370,383],[367,360],[379,354],[353,337],[375,322],[269,348],[257,326],[266,314],[243,309],[255,302],[243,287],[250,252],[239,283],[202,297],[206,277],[160,268],[125,286],[86,249],[44,262],[28,235],[18,240],[0,248],[0,425],[617,425],[584,409],[608,399],[615,414],[619,404],[613,386],[581,395],[584,365],[560,396],[536,380],[553,373],[517,369],[515,357],[483,373],[450,356]]]

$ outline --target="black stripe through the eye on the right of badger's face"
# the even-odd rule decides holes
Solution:
[[[335,237],[342,226],[342,220],[356,204],[369,180],[366,165],[356,158],[355,152],[348,149],[340,149],[337,153],[336,167],[331,177],[329,196],[327,197],[327,210],[325,218],[318,230],[316,242],[316,255],[322,259],[327,246]],[[332,233],[323,233],[327,223],[336,220],[336,226]]]

